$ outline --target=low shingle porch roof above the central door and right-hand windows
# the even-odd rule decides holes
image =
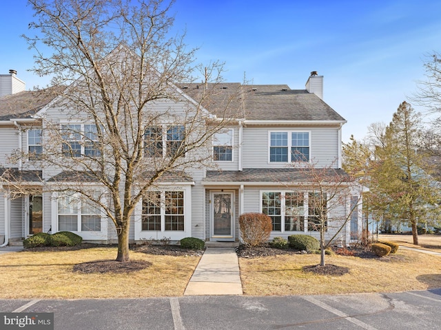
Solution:
[[[203,181],[208,182],[274,182],[278,184],[296,182],[314,182],[307,168],[244,168],[243,170],[207,170]],[[318,168],[315,173],[321,173],[329,182],[349,182],[351,177],[341,168]],[[322,172],[320,172],[322,171]]]

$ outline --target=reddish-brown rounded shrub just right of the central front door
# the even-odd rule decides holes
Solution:
[[[240,237],[249,246],[260,245],[269,239],[273,228],[271,218],[263,213],[244,213],[239,217]]]

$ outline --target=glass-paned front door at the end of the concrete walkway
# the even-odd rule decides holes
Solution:
[[[234,241],[234,192],[212,192],[211,239]]]

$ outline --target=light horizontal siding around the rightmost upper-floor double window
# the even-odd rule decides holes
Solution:
[[[289,163],[269,162],[269,132],[308,131],[311,162],[317,166],[338,166],[338,128],[335,127],[245,127],[243,130],[243,168],[286,168]]]

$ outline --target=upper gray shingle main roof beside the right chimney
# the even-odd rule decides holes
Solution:
[[[203,84],[181,84],[184,93],[201,100]],[[226,88],[225,88],[226,87]],[[316,94],[306,89],[293,90],[288,85],[240,85],[239,83],[208,84],[210,96],[202,105],[221,117],[225,104],[229,112],[240,109],[238,117],[247,120],[336,120],[345,121]],[[213,95],[211,95],[213,94]]]

